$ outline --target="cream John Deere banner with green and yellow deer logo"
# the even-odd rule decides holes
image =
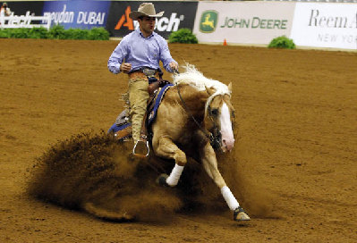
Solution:
[[[200,42],[268,44],[290,35],[293,9],[281,2],[200,2],[193,32]]]

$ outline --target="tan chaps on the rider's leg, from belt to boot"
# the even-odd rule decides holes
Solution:
[[[130,117],[132,119],[132,138],[134,139],[134,142],[138,141],[140,138],[141,124],[146,112],[147,102],[149,99],[148,78],[145,75],[140,74],[129,76],[128,93],[131,106]]]

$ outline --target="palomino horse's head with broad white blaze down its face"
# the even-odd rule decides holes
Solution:
[[[232,84],[228,85],[229,92],[218,92],[214,88],[206,88],[208,101],[204,118],[205,128],[212,133],[211,144],[223,152],[231,151],[234,147],[234,107],[231,104]]]

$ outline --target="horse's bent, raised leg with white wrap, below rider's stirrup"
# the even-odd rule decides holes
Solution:
[[[168,185],[174,187],[180,180],[183,173],[183,167],[187,163],[186,155],[178,148],[171,138],[161,137],[157,142],[153,143],[155,154],[169,159],[174,159],[174,169],[169,176],[163,174],[157,179],[159,184]]]

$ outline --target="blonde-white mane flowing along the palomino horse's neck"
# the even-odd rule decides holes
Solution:
[[[204,91],[207,88],[214,88],[216,92],[209,96],[206,105],[205,113],[207,113],[208,105],[211,103],[215,96],[228,95],[231,96],[231,91],[229,88],[218,80],[211,80],[203,76],[202,72],[198,71],[194,65],[186,64],[183,67],[186,71],[174,75],[174,84],[188,84],[192,87],[197,88],[199,91]]]

